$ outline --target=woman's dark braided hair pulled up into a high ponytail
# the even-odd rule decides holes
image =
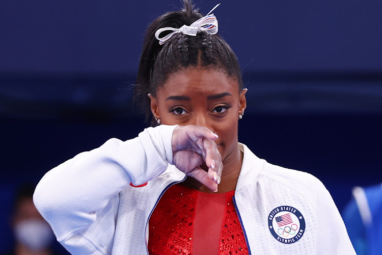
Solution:
[[[156,18],[148,27],[143,44],[137,80],[134,87],[134,103],[141,104],[146,114],[146,120],[151,119],[150,98],[154,97],[160,86],[166,83],[170,74],[187,67],[214,68],[224,72],[228,78],[233,79],[242,89],[241,71],[236,55],[231,47],[219,35],[210,35],[198,31],[197,36],[177,33],[172,39],[162,45],[155,38],[155,32],[165,27],[181,28],[190,25],[203,17],[195,9],[192,0],[183,0],[183,9],[168,12]],[[163,32],[160,36],[163,36]]]

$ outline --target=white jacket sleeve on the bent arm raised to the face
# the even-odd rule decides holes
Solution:
[[[172,164],[174,128],[149,127],[127,141],[112,138],[47,172],[33,199],[57,240],[74,254],[110,254],[118,193],[130,183],[148,182]]]

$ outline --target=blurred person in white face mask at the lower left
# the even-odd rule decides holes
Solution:
[[[12,216],[12,230],[15,244],[9,255],[53,254],[54,240],[49,224],[37,211],[33,203],[34,186],[24,184],[17,191]]]

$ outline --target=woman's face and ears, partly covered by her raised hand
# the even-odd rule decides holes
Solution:
[[[236,152],[237,122],[247,106],[246,89],[216,69],[187,68],[169,76],[151,98],[151,111],[165,125],[199,125],[215,132],[223,164]],[[240,105],[240,107],[239,107]],[[230,157],[231,156],[231,157]]]

